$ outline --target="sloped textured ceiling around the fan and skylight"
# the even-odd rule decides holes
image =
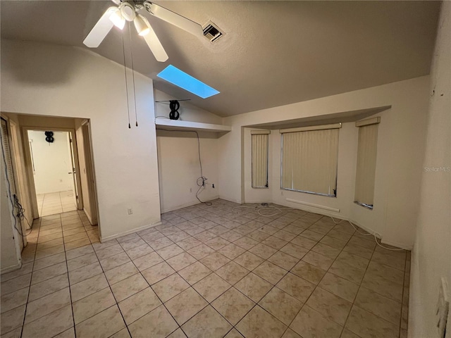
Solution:
[[[438,1],[156,1],[226,35],[217,44],[148,16],[169,59],[132,28],[135,70],[178,99],[221,116],[427,75]],[[0,1],[1,37],[80,46],[111,1]],[[114,28],[96,53],[123,64]],[[125,31],[125,42],[129,35]],[[126,44],[128,45],[128,44]],[[127,65],[130,65],[130,50]],[[159,80],[168,64],[221,94],[200,99]]]

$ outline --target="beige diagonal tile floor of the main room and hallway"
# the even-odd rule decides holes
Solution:
[[[321,215],[236,206],[87,245],[71,237],[77,212],[61,214],[49,248],[43,218],[37,250],[1,276],[1,337],[407,337],[409,252]]]

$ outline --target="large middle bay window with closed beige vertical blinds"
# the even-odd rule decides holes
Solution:
[[[337,195],[338,128],[335,125],[280,130],[281,188]]]

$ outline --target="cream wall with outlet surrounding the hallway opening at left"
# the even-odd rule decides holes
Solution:
[[[90,118],[101,238],[159,223],[152,80],[135,74],[140,126],[132,114],[128,129],[123,66],[77,47],[11,40],[1,47],[2,111]]]

